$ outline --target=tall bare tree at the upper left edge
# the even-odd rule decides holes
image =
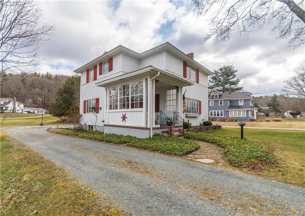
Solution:
[[[53,35],[54,26],[41,24],[42,9],[36,1],[0,1],[1,77],[5,72],[30,72],[41,59],[37,51]]]

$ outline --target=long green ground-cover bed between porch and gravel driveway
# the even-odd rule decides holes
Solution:
[[[137,138],[132,136],[123,136],[117,134],[104,134],[97,131],[72,131],[59,130],[55,133],[74,135],[77,137],[110,142],[116,144],[126,144],[136,148],[145,148],[152,151],[160,151],[173,155],[185,155],[195,151],[200,146],[192,140],[181,139],[179,137],[166,137],[161,134],[155,134],[150,138]]]

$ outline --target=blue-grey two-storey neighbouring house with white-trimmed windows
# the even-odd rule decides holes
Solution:
[[[250,92],[215,92],[209,98],[209,119],[231,119],[231,121],[250,121],[257,119],[258,108],[253,107],[252,93]]]

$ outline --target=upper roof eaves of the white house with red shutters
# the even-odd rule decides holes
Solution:
[[[84,64],[83,66],[77,68],[74,70],[74,72],[76,73],[81,73],[83,71],[85,71],[88,68],[92,68],[94,65],[97,65],[99,63],[101,63],[102,61],[105,61],[107,59],[109,59],[110,57],[119,54],[119,53],[126,53],[128,55],[131,55],[133,57],[136,57],[138,59],[150,56],[154,53],[163,51],[163,50],[167,50],[170,53],[178,56],[179,58],[181,58],[182,60],[188,61],[190,62],[190,64],[193,64],[194,66],[196,66],[197,68],[199,68],[199,70],[201,69],[201,71],[203,71],[206,75],[213,75],[214,73],[210,70],[208,70],[207,68],[203,67],[203,65],[199,64],[197,61],[195,61],[194,59],[192,59],[191,57],[189,57],[188,55],[186,55],[185,53],[183,53],[180,49],[178,49],[177,47],[175,47],[174,45],[172,45],[169,42],[165,42],[159,46],[156,46],[152,49],[146,50],[142,53],[137,53],[131,49],[128,49],[125,46],[119,45],[111,50],[109,50],[108,52],[105,52],[104,54],[102,54],[101,56],[95,58],[94,60],[88,62],[87,64]]]

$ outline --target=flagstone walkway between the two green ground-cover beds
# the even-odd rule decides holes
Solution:
[[[224,148],[199,140],[196,140],[196,142],[200,145],[200,148],[188,154],[186,158],[202,163],[217,163],[218,165],[228,163],[227,157],[224,156]]]

